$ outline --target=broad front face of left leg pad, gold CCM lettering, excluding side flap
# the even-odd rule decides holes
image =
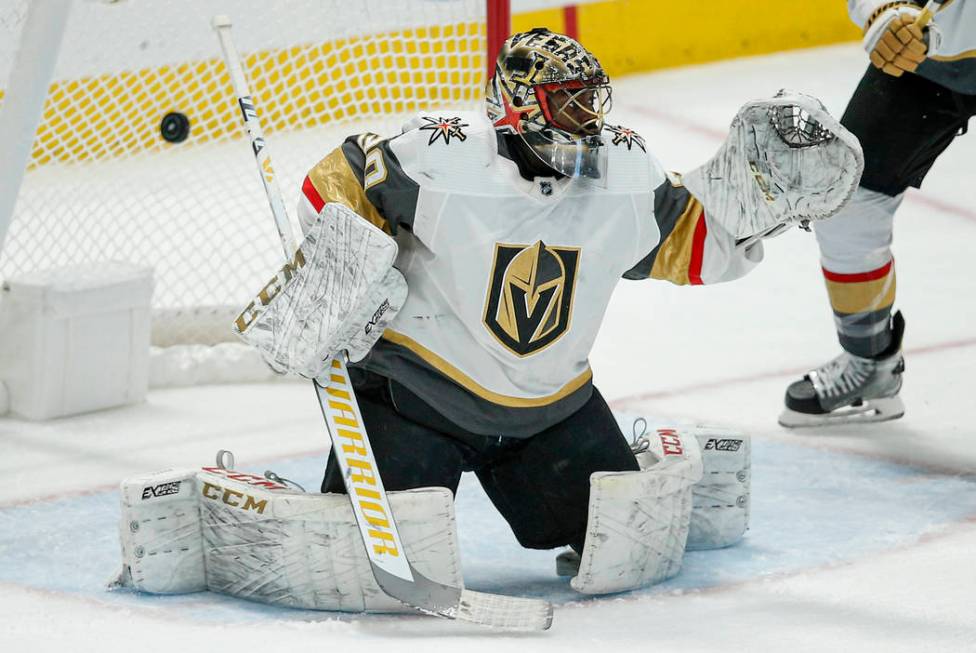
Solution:
[[[213,472],[198,481],[211,590],[290,608],[414,612],[376,584],[347,496],[267,491]],[[417,570],[463,587],[450,491],[389,497]]]

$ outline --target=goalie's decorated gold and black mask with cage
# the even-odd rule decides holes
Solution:
[[[543,163],[567,177],[605,179],[600,132],[610,80],[586,48],[537,27],[505,41],[488,80],[488,118],[518,134]]]

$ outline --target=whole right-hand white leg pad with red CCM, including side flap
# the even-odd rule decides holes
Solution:
[[[627,419],[618,420],[627,430]],[[638,423],[641,471],[593,474],[582,555],[557,558],[557,574],[575,571],[571,585],[579,592],[620,592],[667,580],[680,571],[685,551],[731,546],[748,529],[747,436],[721,427]]]

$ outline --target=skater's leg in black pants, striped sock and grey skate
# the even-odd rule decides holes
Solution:
[[[916,75],[869,68],[841,122],[864,148],[864,176],[851,201],[817,223],[824,279],[843,352],[792,383],[780,424],[875,422],[904,414],[898,396],[904,320],[891,315],[892,219],[909,186],[920,186],[972,113],[971,102]]]

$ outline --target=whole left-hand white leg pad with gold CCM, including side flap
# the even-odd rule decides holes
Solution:
[[[172,491],[167,483],[178,491],[141,498],[146,488]],[[416,569],[463,587],[451,492],[389,496]],[[414,612],[377,586],[345,495],[306,494],[218,468],[162,472],[123,483],[121,527],[121,586],[210,589],[312,610]]]

